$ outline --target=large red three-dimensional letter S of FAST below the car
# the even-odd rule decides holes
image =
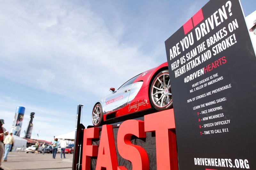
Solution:
[[[148,170],[148,154],[142,147],[132,144],[132,135],[146,137],[143,121],[127,120],[120,125],[117,133],[118,152],[124,159],[132,162],[132,169]],[[118,169],[127,170],[124,166],[119,166]]]

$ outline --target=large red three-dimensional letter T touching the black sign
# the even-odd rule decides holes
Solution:
[[[145,131],[156,131],[156,166],[158,170],[178,170],[173,109],[144,116]]]

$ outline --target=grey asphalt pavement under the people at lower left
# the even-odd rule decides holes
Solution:
[[[60,159],[60,153],[56,154],[55,159],[52,153],[26,153],[26,152],[9,152],[7,161],[2,161],[1,168],[4,170],[72,170],[73,154],[65,154],[66,159]]]

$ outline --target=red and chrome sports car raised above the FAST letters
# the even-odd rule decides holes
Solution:
[[[97,101],[92,111],[95,127],[120,116],[148,109],[162,111],[172,107],[168,64],[145,71],[124,83],[117,90]]]

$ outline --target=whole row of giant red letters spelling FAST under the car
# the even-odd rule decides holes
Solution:
[[[92,145],[92,138],[99,138],[100,128],[84,129],[82,170],[91,169],[91,157],[98,156],[97,169],[127,170],[118,166],[112,125],[103,125],[99,152]],[[117,149],[124,159],[131,161],[133,169],[149,169],[146,151],[131,143],[131,136],[146,137],[146,132],[156,132],[157,169],[178,170],[177,145],[173,109],[144,116],[144,121],[127,120],[121,124],[117,133]]]

